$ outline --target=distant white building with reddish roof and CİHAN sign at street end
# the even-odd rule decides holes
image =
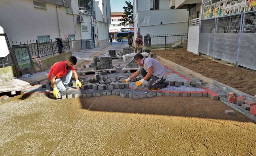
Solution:
[[[129,31],[133,30],[133,25],[122,25],[120,24],[120,20],[124,15],[123,12],[111,12],[111,24],[109,25],[108,31],[109,35],[112,36],[113,39],[116,38],[116,33],[120,31]]]

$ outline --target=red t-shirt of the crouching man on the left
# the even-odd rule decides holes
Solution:
[[[75,71],[74,66],[72,66],[71,68],[72,71]],[[57,62],[55,64],[53,64],[53,66],[51,66],[49,75],[48,75],[48,80],[51,80],[51,76],[54,74],[56,75],[56,79],[61,78],[63,76],[65,76],[67,74],[67,71],[69,70],[66,68],[66,61],[61,61],[61,62]]]

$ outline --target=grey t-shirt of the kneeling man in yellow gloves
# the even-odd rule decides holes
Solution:
[[[156,59],[152,59],[152,58],[144,58],[144,59],[145,59],[144,67],[140,66],[138,71],[141,72],[141,70],[144,68],[145,71],[148,72],[148,68],[153,67],[153,74],[152,74],[153,76],[156,76],[159,78],[163,77],[163,79],[167,78],[166,70],[160,62],[158,62]],[[141,63],[143,63],[143,60],[141,60]]]

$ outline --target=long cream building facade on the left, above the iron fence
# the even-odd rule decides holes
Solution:
[[[107,12],[110,12],[110,0],[96,0],[95,3],[102,4],[101,8],[95,8],[98,10],[96,16],[101,19],[107,18]],[[30,40],[44,42],[50,39],[55,41],[55,38],[67,38],[70,50],[78,51],[84,44],[82,38],[87,39],[87,33],[92,34],[90,17],[85,17],[83,22],[80,22],[78,18],[81,16],[83,15],[79,11],[78,0],[2,0],[0,25],[8,33],[11,42]],[[89,30],[85,31],[82,25],[89,26],[87,27]],[[106,25],[99,24],[104,32],[97,34],[95,21],[95,37],[99,39],[95,42],[95,47],[108,43],[106,42],[108,39],[107,25],[107,22]],[[90,36],[88,39],[93,39],[92,35],[88,36]]]

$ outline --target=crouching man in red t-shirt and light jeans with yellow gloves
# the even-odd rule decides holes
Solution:
[[[49,86],[53,88],[54,97],[59,97],[59,92],[71,89],[69,87],[69,82],[72,77],[72,73],[76,80],[75,86],[79,85],[79,87],[82,87],[82,84],[78,80],[77,72],[75,72],[74,65],[76,63],[77,58],[75,56],[70,56],[66,61],[57,62],[51,66],[48,80]],[[66,78],[66,80],[62,83],[64,78]]]

